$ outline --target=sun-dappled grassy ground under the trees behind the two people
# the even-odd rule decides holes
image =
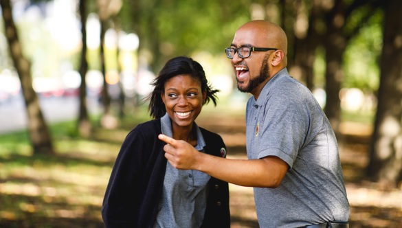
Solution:
[[[145,119],[135,115],[113,130],[97,129],[91,139],[76,137],[74,122],[56,124],[54,156],[32,155],[26,133],[0,135],[0,227],[103,227],[100,209],[113,162],[126,133]],[[208,108],[197,122],[222,135],[228,157],[246,158],[241,108]],[[364,179],[370,126],[342,128],[350,227],[399,227],[402,190],[381,190]],[[232,227],[258,227],[252,188],[230,185],[230,206]]]

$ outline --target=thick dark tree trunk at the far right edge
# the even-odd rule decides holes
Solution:
[[[390,187],[402,181],[402,1],[386,1],[381,78],[368,176]]]

